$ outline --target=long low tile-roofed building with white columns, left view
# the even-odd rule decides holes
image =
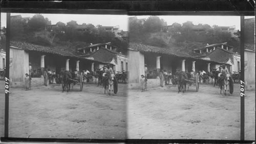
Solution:
[[[70,49],[48,47],[22,41],[10,42],[10,81],[11,87],[24,87],[25,74],[29,73],[29,63],[33,71],[32,85],[43,85],[42,72],[45,69],[82,71],[91,69],[93,65],[102,65],[95,60],[78,57]]]

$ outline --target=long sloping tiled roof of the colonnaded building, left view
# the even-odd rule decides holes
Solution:
[[[11,41],[10,46],[14,46],[14,47],[21,48],[28,51],[53,53],[53,54],[59,54],[62,56],[75,56],[73,52],[71,52],[70,50],[64,49],[63,47],[41,46],[41,45],[31,44],[31,43],[22,42],[22,41]]]

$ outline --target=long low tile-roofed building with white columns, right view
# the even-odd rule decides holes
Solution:
[[[129,87],[139,88],[140,75],[146,75],[148,87],[158,87],[160,69],[171,71],[198,72],[199,70],[210,71],[211,65],[220,63],[192,57],[185,52],[172,48],[162,48],[140,43],[129,45]],[[145,72],[145,65],[147,72]]]

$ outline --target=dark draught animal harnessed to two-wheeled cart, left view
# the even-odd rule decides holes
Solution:
[[[69,80],[61,80],[61,85],[62,85],[62,91],[65,91],[67,89],[67,92],[70,89],[70,84],[72,83],[72,89],[74,85],[78,84],[80,86],[80,91],[83,89],[83,83],[84,79],[86,77],[82,73],[78,73],[77,76],[75,74],[71,74],[72,78],[69,78]]]

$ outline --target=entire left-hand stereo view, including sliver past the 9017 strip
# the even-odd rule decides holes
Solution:
[[[6,27],[10,67],[6,68]],[[126,138],[126,15],[1,13],[0,137]]]

